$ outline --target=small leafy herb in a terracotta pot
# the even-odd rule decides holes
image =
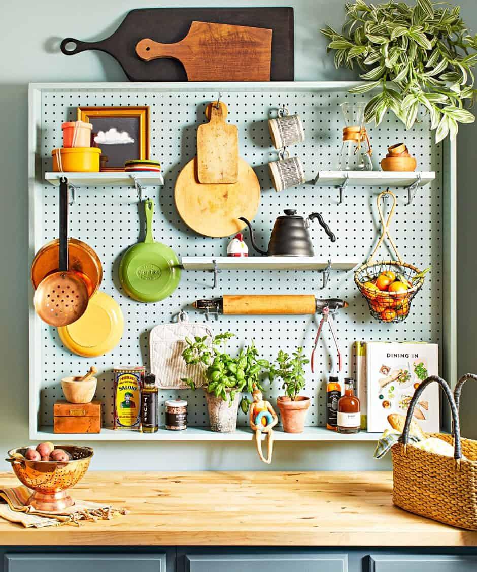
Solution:
[[[287,433],[302,433],[304,430],[310,398],[298,394],[306,383],[303,366],[308,362],[303,355],[303,348],[297,348],[292,356],[280,349],[276,364],[270,366],[270,381],[276,378],[283,380],[285,395],[277,398],[276,404],[280,410],[283,431]]]

